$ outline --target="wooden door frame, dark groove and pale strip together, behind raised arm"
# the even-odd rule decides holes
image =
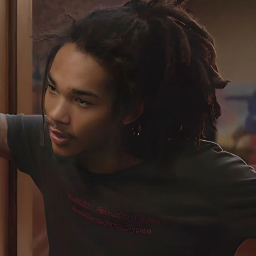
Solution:
[[[9,0],[8,4],[7,112],[32,114],[32,0]],[[8,255],[30,256],[32,180],[17,171],[13,161],[9,161],[8,206]]]

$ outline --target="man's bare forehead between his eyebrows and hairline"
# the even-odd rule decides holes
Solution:
[[[64,45],[56,54],[49,72],[55,82],[67,82],[69,88],[112,91],[114,81],[110,73],[86,53],[75,48],[74,44]]]

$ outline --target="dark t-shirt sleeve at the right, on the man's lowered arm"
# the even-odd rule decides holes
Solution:
[[[256,238],[256,172],[237,155],[215,152],[208,191],[221,217],[223,233]]]

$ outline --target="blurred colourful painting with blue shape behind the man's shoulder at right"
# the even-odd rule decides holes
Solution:
[[[222,109],[217,143],[256,165],[256,83],[230,83],[217,94]]]

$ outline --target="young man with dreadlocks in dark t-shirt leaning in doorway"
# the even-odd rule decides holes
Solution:
[[[1,156],[43,194],[50,256],[231,256],[256,238],[255,171],[201,139],[228,81],[194,17],[132,0],[56,39],[43,115],[0,115]]]

